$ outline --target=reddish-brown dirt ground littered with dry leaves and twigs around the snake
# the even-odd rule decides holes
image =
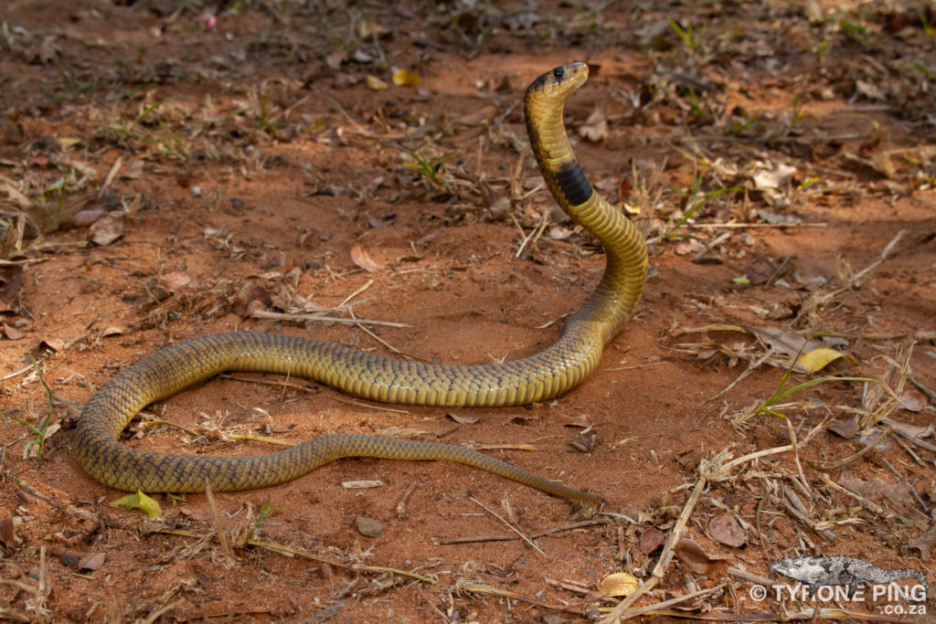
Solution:
[[[7,0],[0,21],[0,618],[936,608],[776,576],[756,593],[799,554],[936,579],[931,5]],[[553,209],[520,98],[574,60],[592,73],[566,109],[579,161],[651,249],[583,385],[446,410],[236,374],[150,406],[124,442],[467,444],[606,505],[368,458],[213,504],[154,496],[160,517],[110,504],[75,459],[80,406],[172,342],[251,330],[478,363],[553,341],[604,258]]]

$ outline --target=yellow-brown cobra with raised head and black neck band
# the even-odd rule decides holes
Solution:
[[[147,405],[224,371],[280,373],[363,399],[446,407],[521,405],[552,399],[579,385],[634,312],[648,266],[639,228],[594,192],[565,132],[565,102],[587,79],[588,65],[562,65],[534,80],[523,96],[527,134],[549,191],[601,241],[606,253],[601,281],[567,317],[555,343],[514,361],[450,366],[273,333],[220,333],[175,342],[124,367],[88,400],[73,441],[81,467],[124,491],[183,493],[275,486],[343,457],[446,460],[564,499],[605,501],[455,444],[337,433],[279,452],[220,457],[148,451],[120,441],[121,432]]]

